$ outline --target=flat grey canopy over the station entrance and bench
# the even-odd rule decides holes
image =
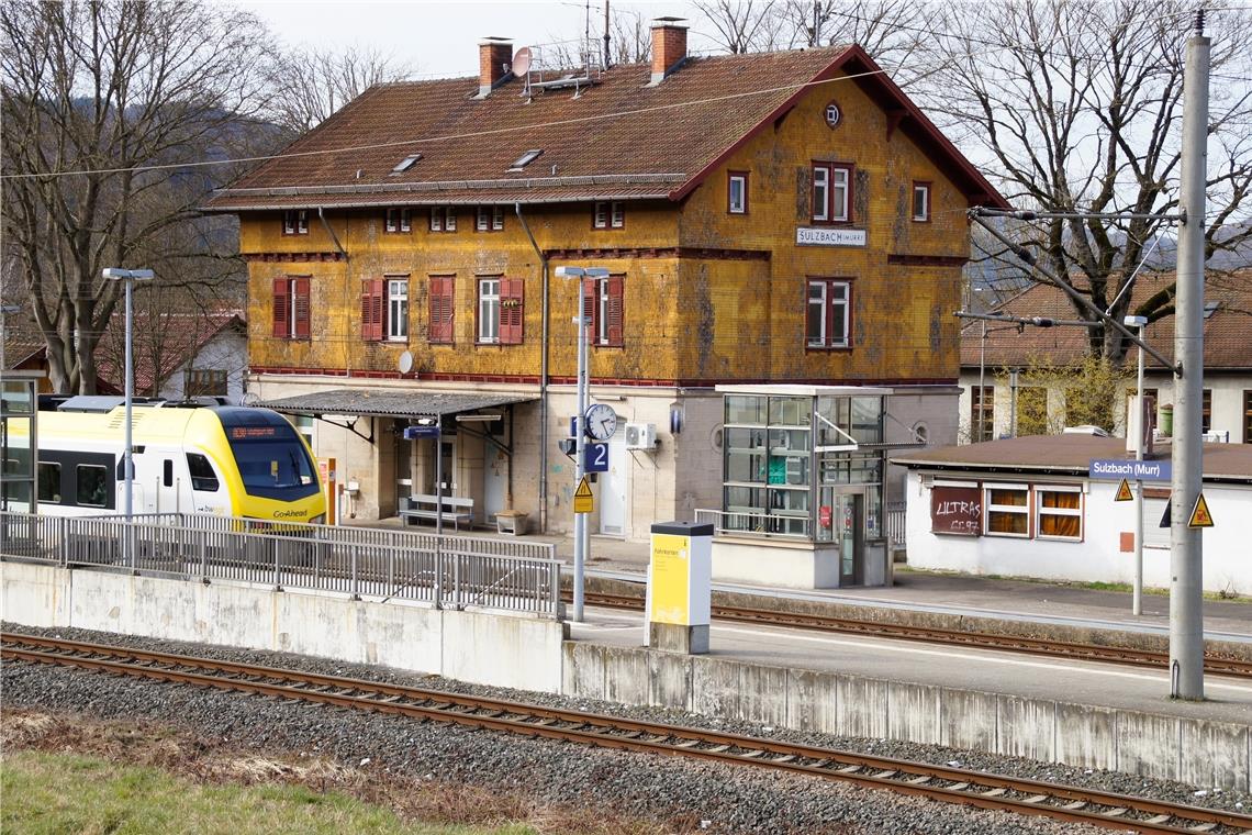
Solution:
[[[343,414],[352,417],[441,418],[537,399],[538,397],[535,394],[329,388],[324,392],[258,401],[252,406],[262,406],[288,414],[312,414],[313,417]]]

